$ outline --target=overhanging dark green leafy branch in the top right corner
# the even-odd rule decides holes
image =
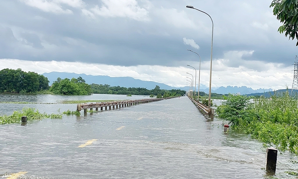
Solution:
[[[279,33],[284,33],[285,36],[289,36],[289,39],[297,39],[298,46],[298,1],[297,0],[274,0],[270,7],[273,8],[274,16],[277,16],[277,20],[283,23],[278,28]]]

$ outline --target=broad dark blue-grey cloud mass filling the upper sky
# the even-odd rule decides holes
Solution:
[[[0,58],[176,66],[184,65],[185,60],[198,60],[196,55],[186,51],[189,47],[181,41],[187,37],[200,46],[199,50],[192,50],[198,52],[203,61],[209,61],[211,21],[205,14],[185,7],[193,5],[208,12],[214,20],[213,58],[225,58],[229,51],[254,50],[252,55],[241,58],[292,64],[297,47],[294,41],[288,41],[277,32],[279,23],[269,9],[270,3],[271,0],[222,0],[185,4],[184,1],[154,0],[147,8],[150,20],[138,21],[123,16],[90,18],[82,9],[70,6],[67,8],[72,14],[56,14],[21,1],[2,0],[0,16],[6,18],[0,19],[0,26],[7,35],[0,35],[2,49],[5,49]],[[143,7],[148,3],[139,1],[138,4]],[[102,7],[102,2],[85,0],[82,8],[89,10],[96,5]],[[19,42],[11,28],[28,43]],[[230,65],[240,64],[233,61]]]

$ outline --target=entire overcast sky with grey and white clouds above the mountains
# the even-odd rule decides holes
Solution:
[[[296,41],[277,32],[271,0],[1,0],[0,69],[131,76],[212,87],[292,87]],[[198,75],[198,74],[197,74]]]

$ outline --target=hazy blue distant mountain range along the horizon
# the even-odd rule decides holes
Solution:
[[[132,77],[110,77],[110,76],[105,76],[105,75],[86,75],[84,73],[77,74],[77,73],[68,73],[68,72],[50,72],[50,73],[43,73],[45,77],[49,79],[49,84],[52,85],[54,81],[57,80],[58,77],[64,79],[64,78],[78,78],[81,76],[83,79],[86,80],[86,83],[88,84],[109,84],[111,86],[120,86],[120,87],[143,87],[147,88],[148,90],[154,89],[156,85],[160,87],[160,89],[164,90],[172,90],[172,89],[180,89],[180,90],[189,90],[189,87],[171,87],[169,85],[163,84],[163,83],[157,83],[154,81],[142,81],[139,79],[134,79]],[[197,88],[196,88],[197,89]],[[200,85],[200,91],[204,91],[206,93],[209,93],[209,88],[207,88],[205,85]],[[219,93],[219,94],[228,94],[228,93],[238,93],[238,94],[252,94],[252,93],[264,93],[264,92],[269,92],[273,91],[271,88],[270,89],[258,89],[258,90],[253,90],[252,88],[248,88],[246,86],[242,87],[232,87],[232,86],[227,86],[227,87],[219,87],[219,88],[212,88],[211,92],[214,93]]]

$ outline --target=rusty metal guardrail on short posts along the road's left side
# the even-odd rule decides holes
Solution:
[[[111,102],[100,102],[100,103],[84,103],[84,104],[77,104],[77,111],[81,111],[84,109],[84,113],[87,113],[87,109],[93,109],[95,108],[96,111],[98,111],[98,108],[100,110],[103,110],[103,107],[105,107],[105,110],[109,109],[116,109],[120,107],[127,107],[127,106],[132,106],[136,104],[142,104],[142,103],[149,103],[149,102],[154,102],[154,101],[161,101],[164,99],[170,99],[170,98],[177,98],[178,96],[175,97],[168,97],[168,98],[148,98],[148,99],[138,99],[138,100],[127,100],[127,101],[111,101]]]

